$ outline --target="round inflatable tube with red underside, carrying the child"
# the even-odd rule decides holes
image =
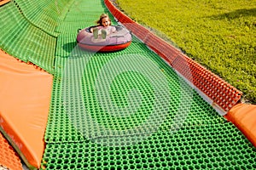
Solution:
[[[131,33],[123,26],[114,26],[116,31],[107,35],[105,39],[99,35],[98,38],[93,37],[90,26],[79,31],[77,42],[80,48],[84,48],[94,52],[110,52],[127,48],[131,44]]]

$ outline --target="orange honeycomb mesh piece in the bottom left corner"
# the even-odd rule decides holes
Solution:
[[[0,165],[12,170],[22,170],[19,156],[15,154],[15,150],[9,145],[0,133]]]

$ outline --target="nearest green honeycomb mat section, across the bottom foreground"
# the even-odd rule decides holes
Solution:
[[[255,148],[233,124],[159,132],[131,145],[84,141],[47,144],[46,169],[255,169]]]

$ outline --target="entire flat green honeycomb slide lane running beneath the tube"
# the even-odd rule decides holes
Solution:
[[[42,168],[255,168],[253,145],[137,37],[114,53],[77,46],[102,13],[101,0],[75,1],[56,28]]]

